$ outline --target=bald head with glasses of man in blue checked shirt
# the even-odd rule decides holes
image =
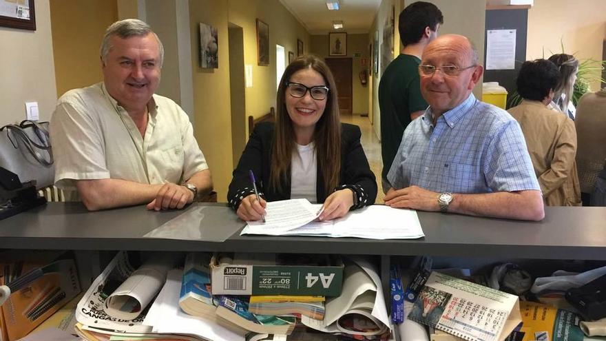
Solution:
[[[483,69],[473,43],[459,34],[445,34],[429,43],[421,56],[421,65],[435,72],[421,72],[421,94],[432,113],[439,116],[470,96]]]

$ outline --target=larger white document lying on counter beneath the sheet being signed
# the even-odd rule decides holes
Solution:
[[[312,205],[317,211],[322,205]],[[417,211],[395,209],[385,205],[370,205],[332,221],[311,221],[286,231],[242,230],[242,234],[270,234],[274,236],[328,236],[367,239],[415,239],[424,237]]]

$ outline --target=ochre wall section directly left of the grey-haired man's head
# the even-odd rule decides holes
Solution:
[[[116,1],[51,0],[50,19],[57,96],[101,81],[99,45],[118,19]]]

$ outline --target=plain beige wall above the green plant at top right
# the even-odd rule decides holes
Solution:
[[[564,45],[564,53],[599,61],[606,39],[606,1],[535,0],[528,10],[527,39],[526,59],[549,58],[562,53]],[[598,89],[597,82],[592,89]]]

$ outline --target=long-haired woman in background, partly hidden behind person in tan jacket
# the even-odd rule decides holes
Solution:
[[[574,92],[574,83],[578,72],[578,59],[570,54],[561,53],[550,56],[549,61],[554,63],[560,72],[558,85],[554,89],[554,105],[552,107],[556,107],[574,121],[576,109],[572,104],[572,93]]]

